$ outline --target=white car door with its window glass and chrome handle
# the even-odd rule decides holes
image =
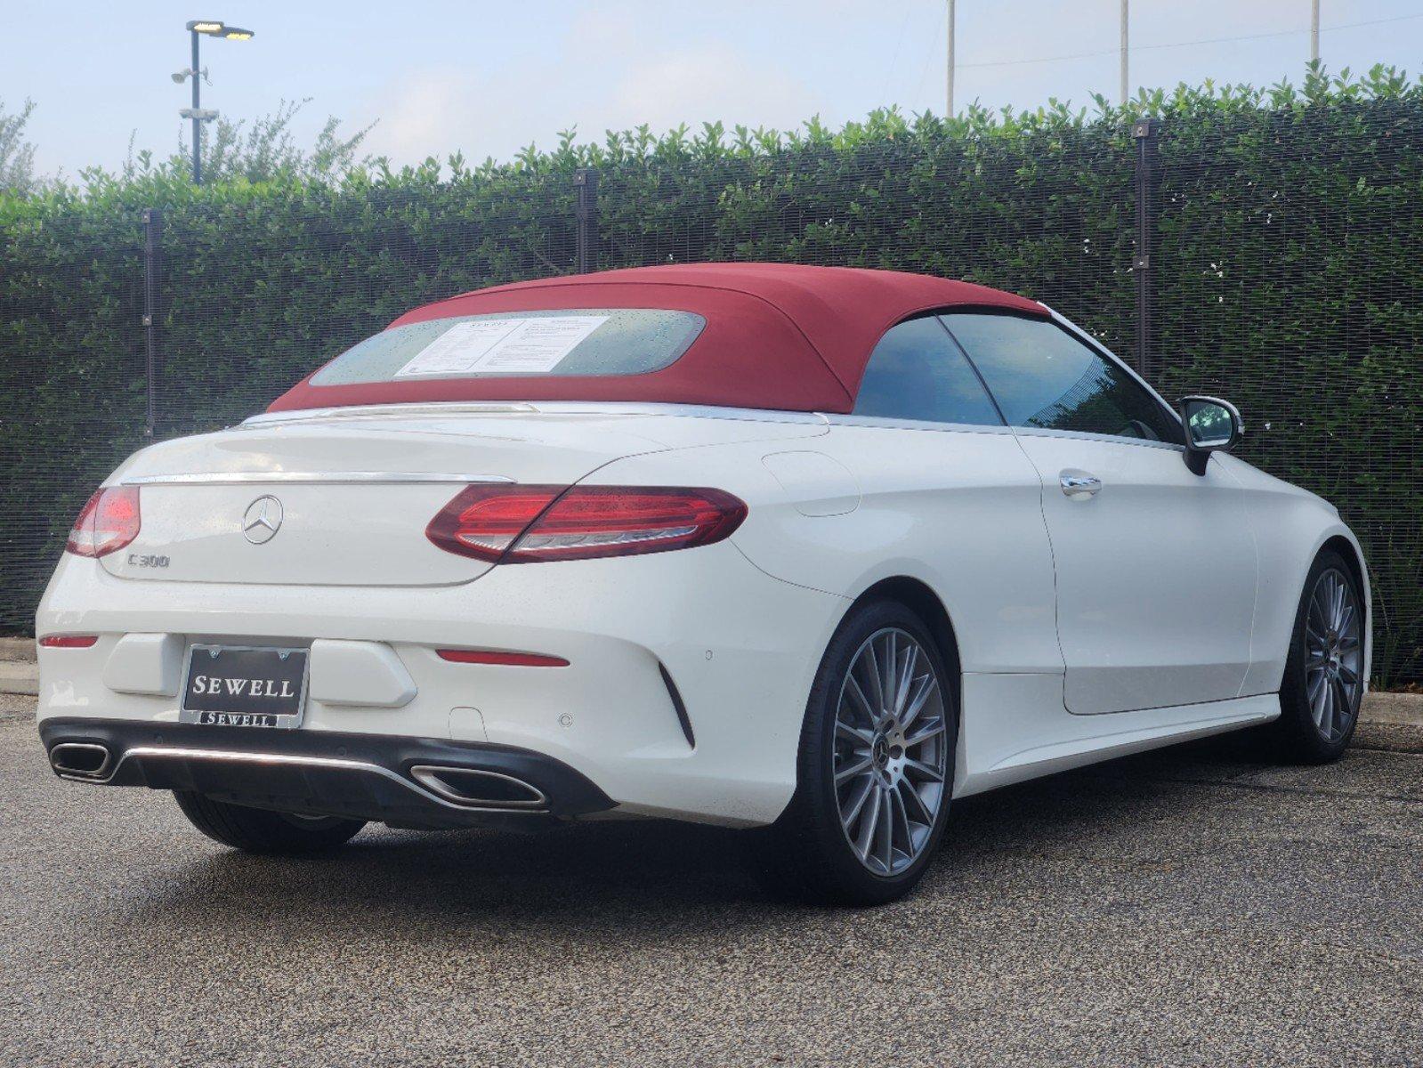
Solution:
[[[1067,711],[1235,698],[1258,561],[1225,466],[1192,474],[1180,422],[1066,326],[993,313],[943,322],[1043,483]]]

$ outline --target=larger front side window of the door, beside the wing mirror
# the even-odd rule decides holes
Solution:
[[[943,323],[1013,426],[1181,444],[1181,426],[1114,363],[1056,323],[961,312]]]

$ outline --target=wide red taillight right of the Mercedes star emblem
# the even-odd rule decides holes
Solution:
[[[721,541],[746,504],[721,490],[662,486],[468,486],[425,537],[504,564],[666,553]]]

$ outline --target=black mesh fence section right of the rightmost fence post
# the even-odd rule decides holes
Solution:
[[[1239,454],[1339,507],[1385,682],[1423,678],[1420,148],[1423,110],[1393,101],[1161,137],[1157,384],[1237,400]]]

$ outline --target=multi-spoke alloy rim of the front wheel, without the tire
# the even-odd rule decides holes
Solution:
[[[1329,568],[1315,581],[1305,618],[1305,696],[1319,736],[1343,738],[1363,686],[1359,601],[1349,580]]]

